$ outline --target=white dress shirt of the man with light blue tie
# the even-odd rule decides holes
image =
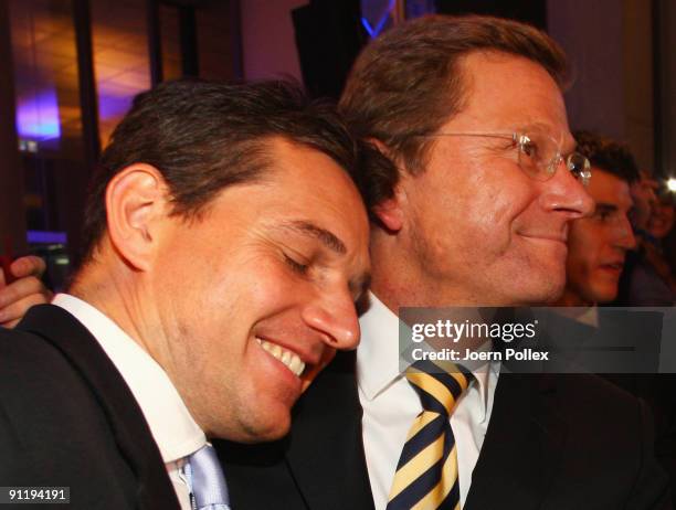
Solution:
[[[190,510],[183,476],[186,457],[207,443],[167,373],[113,320],[92,305],[67,294],[52,301],[74,316],[98,341],[136,397],[167,466],[182,510]]]

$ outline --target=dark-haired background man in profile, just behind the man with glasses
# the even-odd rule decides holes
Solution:
[[[647,187],[648,191],[652,188],[640,182],[638,169],[626,145],[590,131],[577,131],[574,137],[578,151],[591,162],[593,178],[588,190],[594,199],[594,211],[570,226],[566,290],[556,305],[579,307],[574,314],[567,314],[572,315],[579,323],[561,326],[568,337],[566,342],[633,346],[636,352],[641,352],[640,355],[648,358],[653,350],[651,344],[658,352],[662,321],[652,320],[652,312],[640,315],[641,310],[634,310],[626,314],[614,308],[599,308],[598,305],[615,300],[626,254],[636,247],[630,216],[642,217],[643,213],[635,211],[631,190],[641,185]],[[649,194],[640,209],[649,204]],[[613,353],[608,355],[612,357]],[[656,374],[654,371],[642,373],[638,365],[627,373],[613,374],[609,371],[610,368],[602,374],[604,379],[640,396],[651,406],[655,422],[656,456],[672,478],[674,492],[676,379],[673,374]]]

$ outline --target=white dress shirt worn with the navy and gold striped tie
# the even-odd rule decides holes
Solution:
[[[361,316],[359,325],[357,381],[363,407],[363,448],[376,510],[384,510],[406,435],[422,405],[400,371],[397,315],[371,294],[371,307]],[[484,444],[499,363],[484,364],[472,373],[475,381],[451,415],[457,445],[461,506],[467,498],[472,471]]]

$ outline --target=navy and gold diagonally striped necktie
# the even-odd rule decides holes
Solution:
[[[423,411],[401,451],[387,510],[460,509],[457,453],[450,416],[473,375],[457,365],[444,369],[447,372],[423,361],[406,372]]]

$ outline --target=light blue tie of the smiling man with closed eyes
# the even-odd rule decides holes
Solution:
[[[192,454],[186,466],[196,510],[231,510],[221,463],[211,445]]]

